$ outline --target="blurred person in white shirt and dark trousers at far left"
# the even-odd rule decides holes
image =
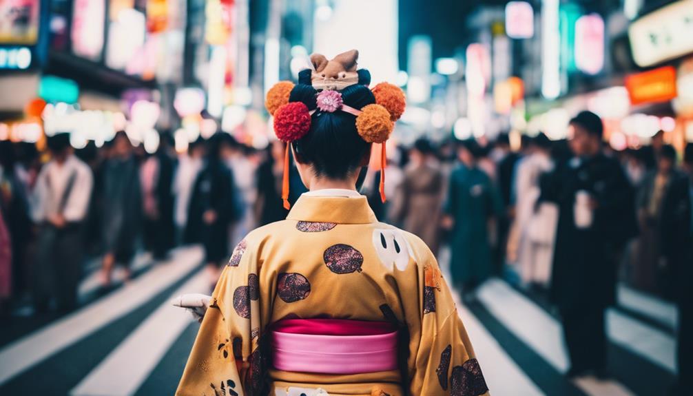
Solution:
[[[32,196],[32,216],[39,224],[34,264],[34,303],[45,311],[55,297],[58,309],[77,304],[82,270],[81,225],[94,184],[89,166],[73,155],[69,134],[48,139],[52,159],[41,170]]]

